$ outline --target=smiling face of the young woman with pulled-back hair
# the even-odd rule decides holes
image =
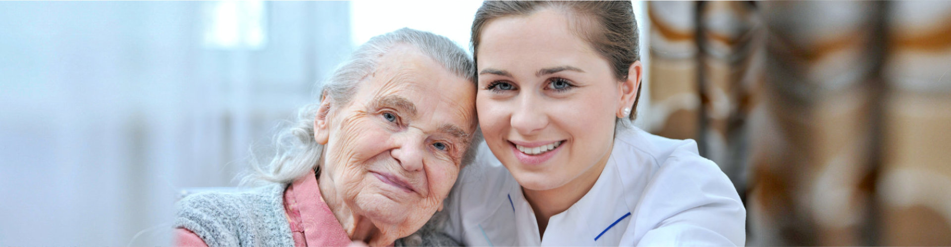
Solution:
[[[608,160],[623,107],[611,65],[558,10],[490,21],[478,47],[485,142],[524,188],[549,190]],[[596,174],[595,174],[596,173]]]

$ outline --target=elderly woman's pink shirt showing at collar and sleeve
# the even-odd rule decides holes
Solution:
[[[351,243],[340,221],[320,196],[313,171],[287,185],[284,214],[290,222],[295,246],[348,246]],[[175,229],[175,236],[176,246],[208,246],[202,237],[188,229]]]

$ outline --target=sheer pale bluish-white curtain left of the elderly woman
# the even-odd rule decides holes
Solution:
[[[0,2],[0,245],[171,243],[182,188],[237,185],[315,100],[349,8]]]

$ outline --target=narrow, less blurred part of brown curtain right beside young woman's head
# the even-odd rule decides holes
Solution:
[[[648,14],[650,131],[696,140],[742,197],[747,119],[764,79],[755,3],[655,1]]]

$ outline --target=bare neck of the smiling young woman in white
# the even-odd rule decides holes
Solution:
[[[608,150],[611,149],[612,147]],[[529,201],[529,205],[532,206],[532,211],[534,211],[535,220],[538,223],[539,237],[545,235],[549,218],[565,212],[575,202],[588,194],[588,191],[591,191],[594,182],[601,176],[601,171],[604,171],[610,157],[611,152],[609,151],[591,169],[559,187],[548,190],[530,190],[522,187],[522,194],[525,195],[525,199]]]

